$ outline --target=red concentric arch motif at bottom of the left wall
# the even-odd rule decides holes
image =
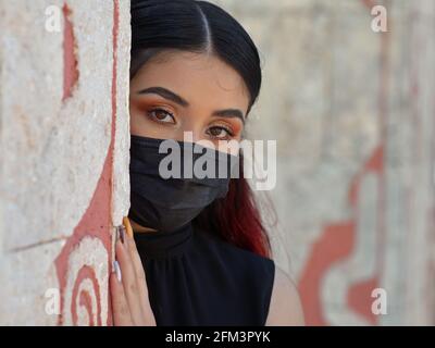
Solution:
[[[73,316],[74,325],[77,325],[78,318],[77,318],[77,295],[79,296],[79,304],[84,306],[88,312],[89,316],[89,325],[95,326],[94,323],[94,313],[92,313],[92,301],[91,296],[88,293],[82,291],[78,294],[78,287],[80,283],[85,279],[90,279],[92,283],[92,290],[96,296],[97,300],[97,324],[101,326],[101,295],[100,295],[100,286],[98,285],[98,281],[95,274],[94,269],[88,265],[85,265],[78,272],[77,278],[74,284],[72,300],[71,300],[71,313]]]

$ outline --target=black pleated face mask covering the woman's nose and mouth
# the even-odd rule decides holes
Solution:
[[[169,161],[174,152],[159,153],[162,141],[179,147],[178,161]],[[195,149],[195,150],[194,150]],[[199,152],[200,153],[196,153]],[[186,156],[186,152],[190,153]],[[191,156],[192,154],[192,156]],[[163,162],[162,160],[166,158]],[[239,158],[194,142],[130,136],[130,209],[128,217],[141,226],[172,232],[194,220],[216,198],[225,197]],[[176,177],[161,175],[161,163]],[[203,165],[206,164],[206,165]],[[213,164],[213,165],[210,165]],[[207,171],[201,175],[199,169]],[[202,172],[203,173],[203,172]],[[213,173],[213,175],[210,175]],[[214,177],[213,177],[214,176]],[[225,177],[223,177],[225,176]]]

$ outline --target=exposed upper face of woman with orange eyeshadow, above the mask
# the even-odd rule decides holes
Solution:
[[[191,141],[240,140],[249,96],[240,75],[214,55],[171,51],[130,80],[130,133]]]

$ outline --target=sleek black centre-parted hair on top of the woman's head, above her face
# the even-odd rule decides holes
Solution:
[[[207,1],[132,0],[130,78],[165,50],[211,53],[232,66],[249,91],[248,113],[261,87],[259,52],[243,26]]]

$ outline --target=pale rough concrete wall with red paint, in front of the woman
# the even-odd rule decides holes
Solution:
[[[60,30],[46,27],[53,5]],[[128,204],[129,2],[2,1],[0,18],[0,323],[108,324]],[[45,311],[50,288],[60,315]]]

